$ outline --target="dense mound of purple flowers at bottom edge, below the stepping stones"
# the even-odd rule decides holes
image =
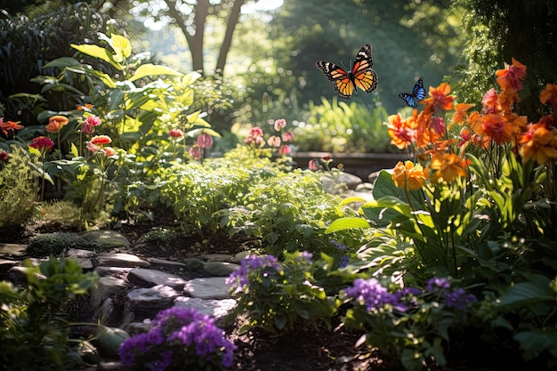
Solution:
[[[152,371],[164,371],[188,360],[198,364],[197,359],[209,363],[221,359],[223,367],[230,367],[236,345],[223,335],[212,317],[173,307],[157,314],[149,332],[126,339],[118,353],[125,367],[149,365]]]

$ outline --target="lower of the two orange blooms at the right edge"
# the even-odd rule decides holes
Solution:
[[[529,130],[521,135],[519,153],[522,162],[534,160],[543,165],[550,158],[557,158],[557,130],[548,129],[543,123],[529,125]]]

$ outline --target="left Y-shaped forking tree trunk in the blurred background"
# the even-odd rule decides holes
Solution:
[[[198,0],[198,4],[192,8],[194,12],[194,30],[193,32],[189,29],[185,22],[182,12],[176,7],[175,0],[165,0],[168,5],[169,14],[180,29],[182,29],[183,34],[186,36],[186,41],[188,46],[190,46],[191,53],[191,67],[194,71],[199,72],[201,75],[205,73],[203,65],[203,42],[205,39],[205,23],[207,14],[209,13],[209,0]]]

